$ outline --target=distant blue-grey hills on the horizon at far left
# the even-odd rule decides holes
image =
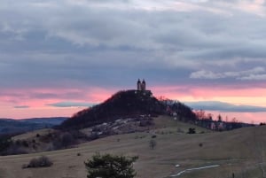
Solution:
[[[52,128],[61,124],[67,118],[32,118],[23,120],[0,119],[0,134],[14,134],[33,131],[42,128]]]

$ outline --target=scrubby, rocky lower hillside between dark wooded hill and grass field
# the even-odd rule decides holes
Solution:
[[[79,130],[45,128],[12,136],[11,139],[3,137],[2,141],[0,137],[0,143],[4,143],[0,146],[0,155],[55,151],[73,148],[78,143],[86,143],[110,135],[149,132],[151,130],[156,130],[158,133],[186,133],[189,128],[195,128],[196,133],[209,132],[207,128],[173,120],[173,117],[169,116],[130,118],[105,122]]]

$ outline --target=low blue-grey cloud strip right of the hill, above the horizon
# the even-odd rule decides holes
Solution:
[[[254,105],[236,105],[218,101],[185,102],[195,110],[219,111],[219,112],[266,112],[266,107]]]

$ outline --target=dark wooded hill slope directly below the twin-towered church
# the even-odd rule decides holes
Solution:
[[[59,128],[89,128],[103,122],[139,115],[159,115],[165,113],[166,108],[165,104],[153,97],[150,90],[121,90],[104,103],[75,113]]]

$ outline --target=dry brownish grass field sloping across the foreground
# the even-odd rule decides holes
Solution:
[[[108,136],[67,150],[0,157],[0,178],[85,178],[83,162],[95,152],[138,156],[134,164],[137,178],[166,178],[185,169],[214,165],[219,166],[173,177],[231,178],[234,173],[236,178],[260,178],[262,169],[266,169],[265,127],[215,133],[196,128],[202,134],[188,135],[180,130],[187,131],[192,127],[189,124],[168,118],[158,118],[155,123],[157,128],[150,132]],[[149,141],[153,135],[157,145],[151,150]],[[49,157],[53,165],[21,168],[41,155]]]

